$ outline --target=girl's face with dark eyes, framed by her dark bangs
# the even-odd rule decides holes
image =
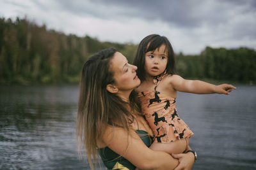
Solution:
[[[168,53],[164,50],[165,45],[161,45],[154,52],[145,54],[145,70],[150,76],[158,76],[166,69]]]

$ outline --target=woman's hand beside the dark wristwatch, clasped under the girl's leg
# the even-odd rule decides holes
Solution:
[[[191,152],[173,154],[172,157],[179,160],[179,165],[174,170],[189,170],[193,167],[195,162],[195,155]]]

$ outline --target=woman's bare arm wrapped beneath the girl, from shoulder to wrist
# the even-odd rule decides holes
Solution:
[[[123,128],[108,127],[103,141],[139,169],[174,169],[179,164],[168,153],[150,150],[135,132],[129,132],[128,137]]]

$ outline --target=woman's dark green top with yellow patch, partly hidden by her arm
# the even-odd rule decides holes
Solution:
[[[148,135],[148,132],[142,130],[136,130],[139,134],[141,140],[148,147],[151,145],[152,138]],[[108,146],[105,148],[98,148],[99,155],[107,167],[107,169],[120,169],[120,170],[132,170],[136,169],[131,162],[129,162],[124,157],[120,157],[118,153],[113,152]]]

